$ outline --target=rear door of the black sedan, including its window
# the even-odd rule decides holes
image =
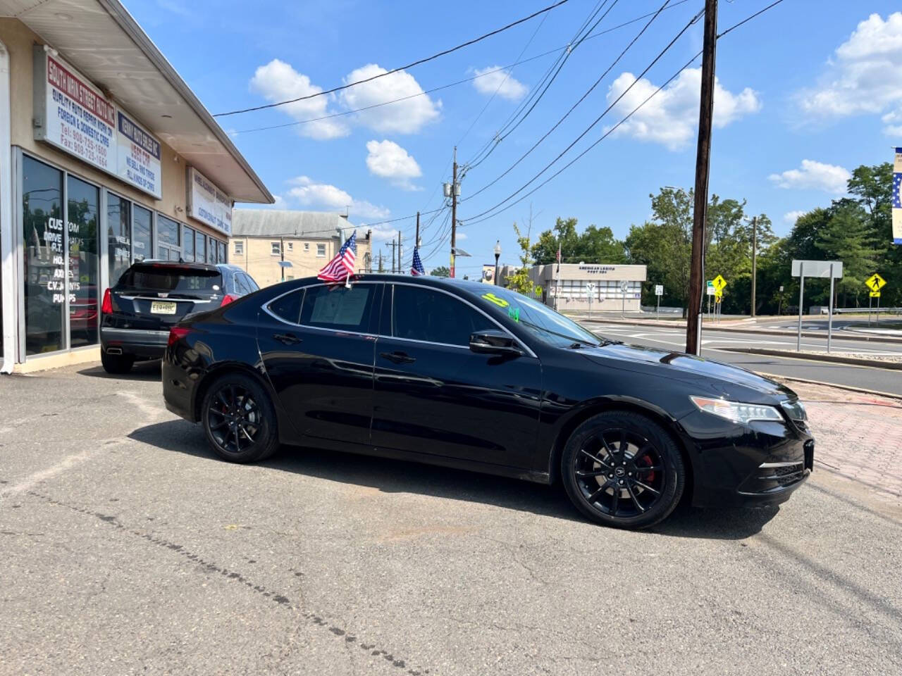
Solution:
[[[382,283],[317,284],[262,307],[263,367],[297,434],[370,443],[374,325]]]

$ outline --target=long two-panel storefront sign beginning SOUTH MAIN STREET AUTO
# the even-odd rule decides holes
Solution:
[[[34,48],[34,138],[157,199],[160,141],[63,59]]]

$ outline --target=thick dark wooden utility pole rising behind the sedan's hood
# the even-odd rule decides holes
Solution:
[[[698,108],[698,149],[695,154],[695,207],[692,223],[692,263],[686,316],[686,352],[702,352],[702,285],[704,284],[705,221],[708,215],[708,175],[711,168],[711,126],[714,108],[714,59],[717,53],[717,0],[704,0],[702,96]]]

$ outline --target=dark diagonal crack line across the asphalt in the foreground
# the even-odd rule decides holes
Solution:
[[[340,639],[346,645],[356,644],[362,651],[368,651],[373,656],[382,656],[382,658],[386,662],[389,662],[392,667],[398,670],[405,670],[403,672],[410,674],[410,676],[421,676],[422,674],[435,673],[434,671],[429,669],[414,669],[412,667],[409,667],[408,664],[410,663],[410,660],[402,659],[394,653],[379,649],[376,647],[376,644],[371,644],[369,642],[359,640],[356,635],[349,634],[344,628],[340,626],[330,624],[324,617],[321,617],[315,612],[309,611],[302,604],[292,603],[291,599],[288,596],[281,594],[273,589],[267,589],[263,585],[254,584],[253,580],[249,580],[242,573],[238,571],[230,571],[226,569],[225,566],[221,566],[216,562],[207,561],[198,553],[191,552],[188,548],[182,546],[181,544],[172,543],[159,535],[146,533],[136,528],[131,528],[128,525],[122,523],[116,516],[96,512],[88,509],[87,507],[78,507],[78,505],[73,505],[56,498],[51,498],[51,496],[44,495],[34,490],[28,490],[26,491],[26,494],[31,496],[32,498],[41,499],[44,502],[47,502],[55,507],[66,507],[67,509],[70,509],[74,512],[78,512],[78,514],[100,519],[100,521],[102,521],[104,524],[115,528],[117,531],[120,531],[124,534],[131,534],[135,537],[140,537],[143,540],[146,540],[148,543],[155,544],[163,549],[169,550],[170,553],[175,553],[183,557],[186,561],[191,562],[194,565],[202,566],[207,572],[217,573],[227,581],[242,584],[248,589],[252,589],[256,593],[260,594],[263,598],[267,598],[268,600],[272,601],[278,607],[297,611],[300,617],[303,617],[308,621],[308,623],[322,627],[323,629],[327,630],[329,634],[333,635],[336,639]]]

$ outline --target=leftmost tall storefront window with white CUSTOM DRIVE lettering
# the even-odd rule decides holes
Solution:
[[[23,157],[25,353],[62,350],[66,269],[62,172]]]

